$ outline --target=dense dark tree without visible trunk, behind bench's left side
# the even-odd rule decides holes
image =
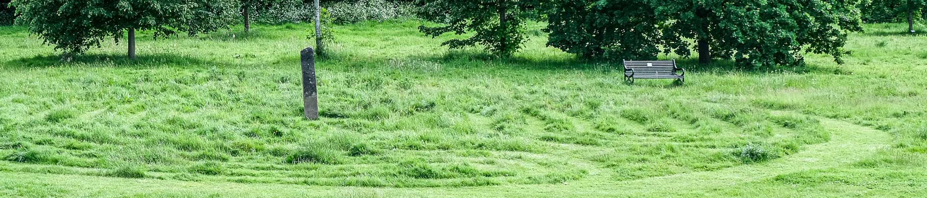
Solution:
[[[657,19],[639,0],[556,0],[548,13],[547,45],[585,58],[654,59]]]

